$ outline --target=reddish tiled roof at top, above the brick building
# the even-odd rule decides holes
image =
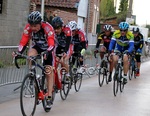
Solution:
[[[41,0],[32,0],[37,5],[41,5]],[[77,8],[80,0],[45,0],[45,5],[63,8]]]

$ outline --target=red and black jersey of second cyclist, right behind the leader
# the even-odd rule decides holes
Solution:
[[[69,27],[64,26],[62,32],[59,35],[55,35],[56,54],[63,52],[71,54],[71,30]]]

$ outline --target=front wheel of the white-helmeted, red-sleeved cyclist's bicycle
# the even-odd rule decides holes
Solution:
[[[82,84],[82,73],[77,73],[74,76],[74,88],[76,92],[80,90],[81,84]]]

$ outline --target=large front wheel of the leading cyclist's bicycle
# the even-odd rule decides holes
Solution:
[[[25,92],[25,93],[24,93]],[[31,94],[31,95],[30,95]],[[36,110],[37,105],[37,83],[35,82],[35,78],[31,74],[27,74],[23,79],[20,91],[20,107],[21,113],[23,116],[33,116]],[[31,99],[33,98],[33,103]],[[25,98],[25,101],[24,101]],[[28,103],[27,103],[28,102]],[[29,105],[32,104],[32,107]],[[25,108],[27,106],[27,109]],[[30,110],[30,111],[29,111]]]

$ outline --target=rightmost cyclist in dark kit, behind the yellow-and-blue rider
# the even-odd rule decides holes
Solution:
[[[141,66],[141,55],[142,55],[142,48],[144,45],[143,35],[140,33],[140,29],[138,27],[134,27],[132,29],[134,34],[134,48],[135,48],[135,58],[137,61],[137,73],[136,76],[140,76],[140,66]]]

